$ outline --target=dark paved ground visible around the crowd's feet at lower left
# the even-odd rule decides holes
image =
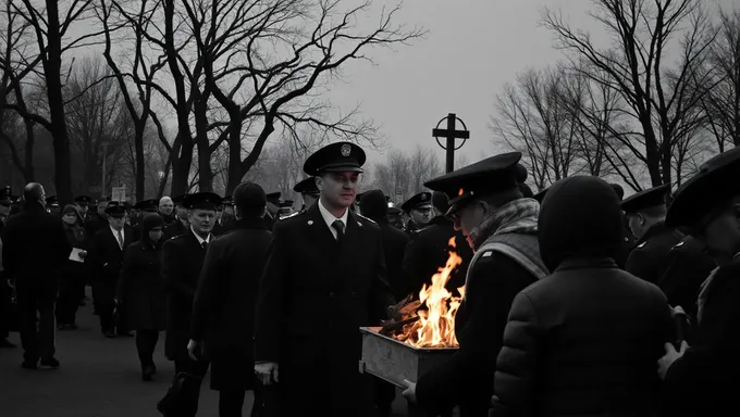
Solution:
[[[106,339],[91,307],[77,313],[79,329],[57,332],[59,369],[21,368],[23,351],[17,333],[10,340],[16,349],[0,350],[0,416],[2,417],[161,417],[156,404],[164,395],[174,366],[164,358],[164,333],[155,362],[158,375],[144,382],[134,338]],[[198,417],[218,417],[218,392],[203,381]],[[249,415],[247,393],[244,416]],[[403,416],[404,402],[396,400]]]

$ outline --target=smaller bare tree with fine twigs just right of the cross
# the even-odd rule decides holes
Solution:
[[[563,98],[567,73],[564,67],[528,70],[506,85],[497,97],[497,116],[492,128],[511,149],[522,152],[538,188],[578,172],[577,116]]]

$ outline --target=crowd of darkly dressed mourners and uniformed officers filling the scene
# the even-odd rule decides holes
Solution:
[[[533,194],[520,159],[430,178],[431,192],[396,207],[381,190],[358,193],[362,149],[332,143],[305,162],[293,214],[254,182],[226,198],[81,195],[61,210],[39,184],[20,210],[7,189],[0,265],[12,286],[0,300],[16,295],[17,317],[0,317],[0,339],[12,346],[17,327],[24,368],[59,367],[54,332],[77,329],[90,285],[102,334],[134,337],[145,381],[164,331],[176,374],[165,416],[196,415],[209,369],[222,417],[242,415],[246,391],[252,416],[387,416],[396,390],[358,371],[359,328],[398,320],[396,302],[431,283],[454,238],[459,349],[402,382],[415,413],[732,414],[740,149],[675,192],[627,199],[593,176]]]

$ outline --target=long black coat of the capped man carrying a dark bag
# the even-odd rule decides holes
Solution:
[[[187,342],[193,299],[205,257],[206,250],[189,228],[162,247],[161,271],[168,301],[164,355],[170,361],[189,359]]]

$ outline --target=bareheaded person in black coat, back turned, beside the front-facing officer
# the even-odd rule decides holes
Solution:
[[[203,261],[193,303],[193,357],[211,363],[211,389],[220,391],[219,416],[242,416],[246,390],[255,391],[251,415],[262,404],[255,378],[252,337],[259,278],[272,233],[262,216],[262,188],[244,182],[234,190],[235,229],[211,243]],[[202,352],[201,352],[202,351]]]

